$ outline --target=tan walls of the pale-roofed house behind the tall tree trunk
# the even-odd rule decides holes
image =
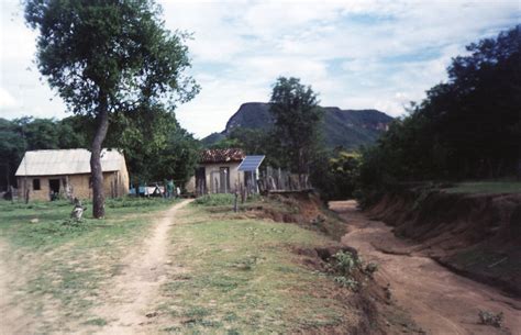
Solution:
[[[33,179],[40,179],[40,190],[33,190]],[[30,200],[49,200],[49,180],[59,179],[59,193],[67,197],[67,186],[71,196],[78,199],[91,199],[92,188],[89,185],[90,174],[70,176],[31,176],[18,177],[20,198],[23,199],[25,190],[29,188]],[[129,172],[126,168],[120,171],[103,172],[103,190],[108,198],[123,197],[129,193]]]

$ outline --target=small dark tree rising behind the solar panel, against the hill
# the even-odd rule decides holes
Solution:
[[[309,166],[319,146],[319,125],[323,111],[310,86],[300,79],[280,77],[274,85],[269,111],[275,137],[280,142],[280,158],[299,175]]]

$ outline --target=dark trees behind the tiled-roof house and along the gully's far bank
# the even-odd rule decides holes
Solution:
[[[318,94],[296,78],[274,85],[273,130],[235,129],[215,144],[267,155],[268,164],[309,174],[325,200],[362,200],[402,182],[514,177],[521,170],[520,25],[472,43],[448,80],[411,102],[377,143],[329,150]]]

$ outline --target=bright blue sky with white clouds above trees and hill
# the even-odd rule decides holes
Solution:
[[[176,115],[198,138],[242,103],[267,102],[279,76],[310,85],[323,107],[402,115],[465,45],[521,23],[519,0],[156,1],[167,29],[192,34],[201,92]],[[0,0],[0,118],[70,115],[38,74],[20,1]]]

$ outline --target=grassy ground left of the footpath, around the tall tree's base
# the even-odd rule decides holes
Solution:
[[[107,219],[93,220],[87,203],[86,217],[68,220],[66,201],[0,202],[1,255],[15,269],[10,289],[15,304],[31,315],[36,333],[53,333],[68,320],[89,320],[99,300],[99,288],[121,271],[119,259],[146,236],[152,219],[171,201],[125,199],[107,201]],[[37,221],[32,223],[31,221]]]

